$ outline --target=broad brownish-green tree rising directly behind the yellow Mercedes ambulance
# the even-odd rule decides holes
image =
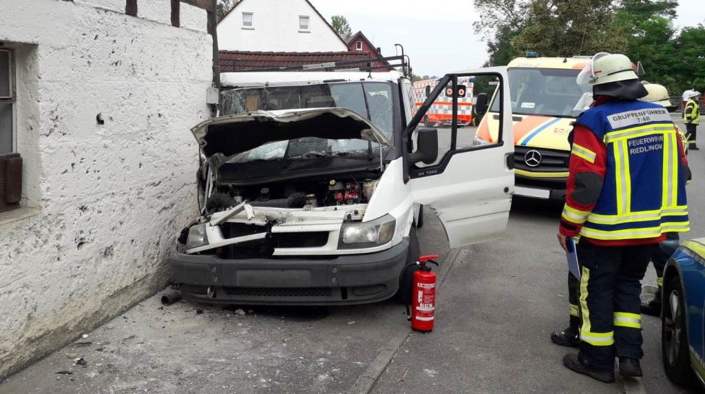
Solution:
[[[615,9],[611,0],[532,0],[527,26],[512,47],[540,56],[624,53],[627,37],[613,23]]]

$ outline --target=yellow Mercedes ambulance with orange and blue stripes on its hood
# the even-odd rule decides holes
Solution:
[[[591,56],[538,57],[529,53],[508,65],[514,125],[515,195],[564,199],[568,178],[568,134],[577,115],[592,101],[590,85],[578,85],[578,73]],[[479,94],[475,111],[485,113],[474,144],[494,143],[500,102]]]

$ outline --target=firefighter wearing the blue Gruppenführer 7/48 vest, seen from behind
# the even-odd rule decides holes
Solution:
[[[685,154],[670,114],[639,101],[647,92],[632,62],[596,54],[578,75],[595,102],[573,128],[558,242],[580,235],[580,351],[563,357],[579,374],[613,382],[642,376],[640,281],[668,232],[689,230]]]

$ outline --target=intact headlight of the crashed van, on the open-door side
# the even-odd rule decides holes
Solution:
[[[391,241],[396,228],[396,219],[390,214],[367,223],[343,223],[338,247],[341,249],[360,249],[375,247]]]

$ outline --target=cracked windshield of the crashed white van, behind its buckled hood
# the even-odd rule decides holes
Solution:
[[[346,108],[361,113],[393,141],[393,98],[387,82],[324,83],[319,85],[257,87],[223,92],[222,116],[252,111]],[[367,156],[379,144],[365,140],[303,137],[274,141],[236,154],[228,163],[256,160],[311,159],[331,156]]]

